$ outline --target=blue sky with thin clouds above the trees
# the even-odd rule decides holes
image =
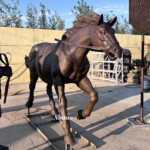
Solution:
[[[6,2],[9,0],[5,0]],[[124,15],[128,20],[129,0],[84,0],[88,5],[93,6],[93,10],[98,14],[106,14],[111,10],[118,17]],[[63,20],[65,20],[65,27],[72,27],[72,22],[75,20],[71,10],[77,5],[78,0],[20,0],[19,9],[23,13],[25,20],[26,8],[28,4],[34,5],[40,10],[40,2],[42,2],[47,9],[56,11]]]

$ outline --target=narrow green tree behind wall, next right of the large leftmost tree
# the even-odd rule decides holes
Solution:
[[[38,12],[37,9],[33,5],[27,6],[27,28],[37,28],[38,27]]]

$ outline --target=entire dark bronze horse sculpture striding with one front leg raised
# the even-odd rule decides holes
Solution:
[[[68,29],[57,44],[40,43],[34,45],[29,54],[30,69],[30,94],[26,103],[32,107],[34,89],[38,77],[47,83],[47,94],[51,106],[51,115],[58,114],[52,94],[54,85],[59,99],[59,108],[63,117],[67,117],[67,99],[65,96],[65,84],[75,83],[81,90],[89,95],[90,101],[84,110],[79,110],[77,119],[85,119],[98,101],[98,93],[93,88],[87,77],[89,61],[87,54],[90,49],[103,50],[111,60],[121,57],[122,48],[115,37],[112,28],[117,17],[105,23],[103,15],[90,12],[88,16],[78,16],[74,26]],[[70,132],[68,120],[62,120],[65,132],[65,144],[74,142]]]

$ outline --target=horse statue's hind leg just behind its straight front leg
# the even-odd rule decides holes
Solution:
[[[51,115],[55,119],[55,115],[58,115],[58,110],[55,106],[55,101],[53,99],[52,85],[51,84],[47,85],[47,94],[49,96],[49,104],[51,106]]]

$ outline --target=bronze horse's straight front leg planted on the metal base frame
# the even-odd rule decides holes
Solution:
[[[74,143],[74,138],[70,132],[70,122],[67,120],[67,99],[64,92],[63,80],[60,77],[54,79],[54,86],[59,99],[59,108],[62,116],[62,127],[65,132],[64,142],[71,145]]]

